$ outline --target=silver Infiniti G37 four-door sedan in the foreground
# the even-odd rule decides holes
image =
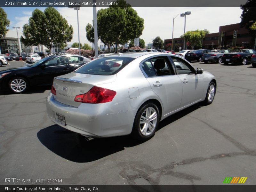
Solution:
[[[117,53],[54,78],[50,119],[87,138],[154,136],[159,121],[197,102],[211,104],[215,77],[168,53]]]

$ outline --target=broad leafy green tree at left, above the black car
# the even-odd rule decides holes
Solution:
[[[23,26],[21,41],[25,45],[43,44],[50,50],[53,43],[66,44],[73,38],[73,27],[68,25],[60,13],[53,7],[47,7],[44,12],[35,9]]]

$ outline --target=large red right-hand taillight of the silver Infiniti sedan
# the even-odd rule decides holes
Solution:
[[[75,101],[82,103],[107,103],[112,101],[115,95],[115,91],[94,86],[87,93],[76,95]]]

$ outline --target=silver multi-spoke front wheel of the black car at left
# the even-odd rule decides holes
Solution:
[[[23,77],[14,77],[9,81],[9,88],[13,93],[23,93],[28,90],[28,81]]]

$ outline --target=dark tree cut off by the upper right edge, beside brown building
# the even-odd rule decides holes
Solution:
[[[255,12],[256,2],[255,0],[247,0],[247,2],[244,5],[241,5],[241,9],[243,10],[241,14],[241,22],[240,27],[245,27],[249,30],[250,35],[252,36],[251,44],[253,45],[253,42],[256,37],[256,30],[253,30],[252,27],[252,20],[254,22],[256,21],[256,12]],[[253,46],[252,46],[253,47]]]

